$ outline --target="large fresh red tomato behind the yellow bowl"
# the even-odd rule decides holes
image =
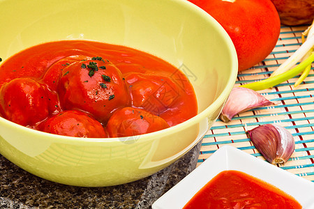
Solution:
[[[270,0],[188,0],[223,26],[237,51],[239,71],[251,68],[274,49],[281,22]]]

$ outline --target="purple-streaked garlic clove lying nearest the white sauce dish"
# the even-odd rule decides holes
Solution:
[[[294,152],[292,134],[280,125],[260,125],[248,131],[255,148],[271,164],[284,164]]]

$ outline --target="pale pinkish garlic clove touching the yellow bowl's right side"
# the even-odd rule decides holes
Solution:
[[[219,118],[223,122],[229,122],[236,114],[271,104],[274,102],[267,100],[256,91],[244,87],[234,87]]]

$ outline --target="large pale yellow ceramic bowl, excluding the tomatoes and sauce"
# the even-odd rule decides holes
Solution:
[[[0,57],[42,42],[87,39],[155,54],[192,82],[199,113],[137,137],[80,139],[0,118],[0,152],[36,176],[66,185],[109,186],[167,167],[216,120],[237,77],[237,55],[223,28],[184,0],[0,0]]]

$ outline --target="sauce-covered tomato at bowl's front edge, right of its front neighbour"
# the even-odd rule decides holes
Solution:
[[[124,107],[117,109],[107,123],[110,137],[129,137],[156,132],[170,127],[163,118],[144,109]]]

